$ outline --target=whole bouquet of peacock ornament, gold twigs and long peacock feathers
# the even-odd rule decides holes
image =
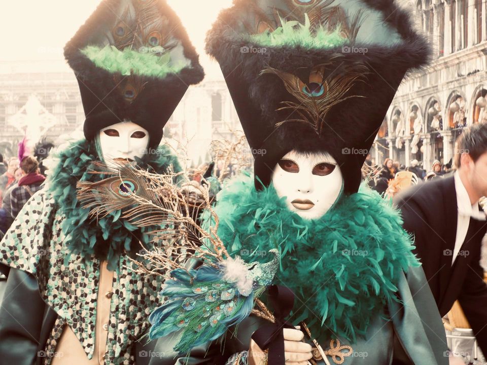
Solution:
[[[153,247],[133,260],[137,270],[166,277],[162,306],[149,317],[150,339],[180,332],[175,351],[189,350],[222,336],[251,313],[272,320],[259,296],[279,266],[277,250],[268,263],[230,257],[217,235],[210,184],[175,184],[176,175],[156,175],[132,165],[94,165],[112,175],[99,182],[78,182],[78,200],[92,217],[122,210],[121,217],[150,231]],[[203,228],[194,208],[206,209],[214,224]],[[206,225],[204,225],[206,226]]]

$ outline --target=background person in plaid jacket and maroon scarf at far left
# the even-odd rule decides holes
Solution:
[[[26,156],[20,163],[22,178],[10,193],[12,217],[15,218],[34,193],[41,190],[46,177],[39,173],[39,162],[34,156]]]

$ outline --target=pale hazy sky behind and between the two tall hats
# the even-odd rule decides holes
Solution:
[[[218,65],[204,54],[204,36],[231,0],[167,0],[181,17],[201,56],[208,78],[221,78]],[[0,72],[63,71],[62,48],[100,0],[2,1]]]

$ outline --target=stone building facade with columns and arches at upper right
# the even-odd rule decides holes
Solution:
[[[433,62],[400,86],[372,157],[430,170],[448,163],[465,126],[487,122],[486,0],[403,1],[433,46]]]

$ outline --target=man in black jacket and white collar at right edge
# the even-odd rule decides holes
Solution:
[[[404,229],[414,235],[439,312],[459,300],[478,344],[487,354],[487,284],[480,266],[487,225],[478,199],[487,196],[487,125],[457,140],[457,172],[398,195]]]

